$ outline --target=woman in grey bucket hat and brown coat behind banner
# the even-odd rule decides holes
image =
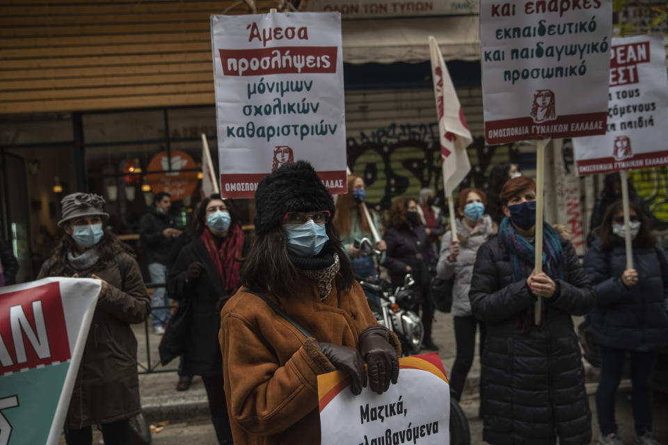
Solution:
[[[131,443],[129,419],[141,414],[141,405],[137,341],[130,325],[148,317],[151,300],[129,247],[103,227],[109,218],[104,199],[94,193],[72,193],[61,204],[63,217],[58,225],[65,234],[38,278],[102,281],[67,410],[65,439],[70,445],[90,445],[91,426],[97,424],[104,443]]]

